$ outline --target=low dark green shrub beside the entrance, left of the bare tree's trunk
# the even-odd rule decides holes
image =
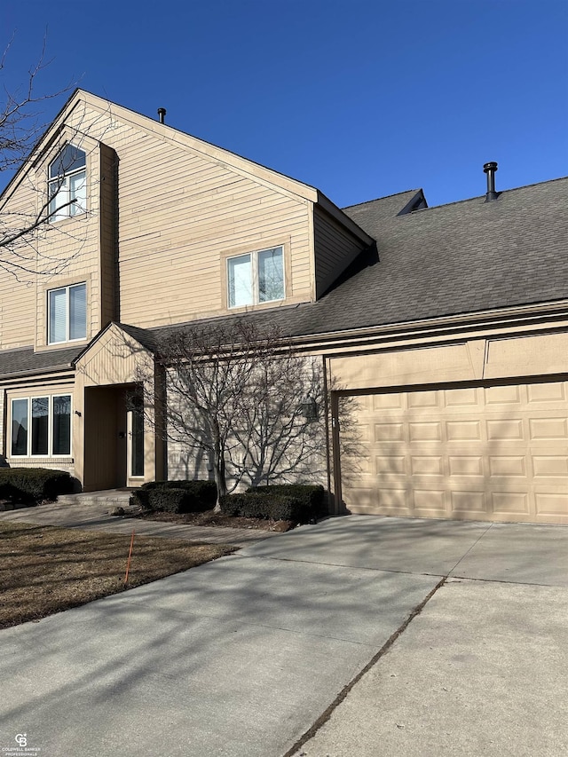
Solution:
[[[212,481],[150,481],[130,497],[130,505],[170,513],[202,512],[213,508],[217,488]]]

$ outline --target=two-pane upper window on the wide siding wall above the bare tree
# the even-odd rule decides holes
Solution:
[[[227,258],[230,308],[283,300],[284,249],[274,247]]]

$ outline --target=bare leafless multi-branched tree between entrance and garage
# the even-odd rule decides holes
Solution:
[[[213,469],[219,498],[237,485],[298,480],[324,469],[321,363],[277,329],[245,319],[187,327],[159,345],[164,435]],[[143,381],[145,386],[151,382]],[[146,406],[154,398],[145,398]]]

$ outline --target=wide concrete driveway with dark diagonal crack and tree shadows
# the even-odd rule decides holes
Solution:
[[[567,618],[568,528],[330,519],[0,631],[0,751],[560,755]]]

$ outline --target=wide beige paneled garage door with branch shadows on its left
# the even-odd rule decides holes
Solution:
[[[568,524],[568,382],[354,402],[359,449],[341,466],[351,512]]]

